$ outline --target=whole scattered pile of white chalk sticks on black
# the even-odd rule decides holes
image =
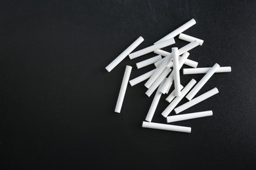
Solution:
[[[148,110],[148,114],[146,115],[146,118],[145,118],[146,121],[142,122],[142,127],[153,128],[153,129],[163,129],[163,130],[169,130],[169,131],[180,131],[185,133],[191,132],[191,127],[174,126],[170,124],[159,124],[159,123],[152,122],[152,118],[154,116],[154,113],[160,101],[161,95],[169,93],[169,90],[173,82],[174,82],[175,90],[169,93],[169,95],[165,99],[170,104],[167,106],[167,108],[163,110],[163,112],[161,112],[161,115],[164,118],[166,118],[167,123],[177,122],[181,120],[189,120],[193,118],[202,118],[205,116],[213,115],[212,110],[192,112],[187,114],[179,114],[182,111],[219,93],[219,90],[217,88],[213,88],[212,90],[209,90],[208,92],[205,92],[202,95],[199,95],[198,97],[194,97],[201,90],[201,88],[203,88],[203,85],[209,80],[209,78],[211,78],[211,76],[213,76],[214,73],[231,72],[231,67],[220,67],[218,63],[215,63],[213,67],[196,68],[198,66],[198,62],[188,59],[188,56],[190,56],[188,51],[191,50],[192,48],[195,48],[198,45],[202,46],[203,44],[202,39],[197,39],[195,37],[191,37],[190,35],[185,35],[182,33],[183,31],[185,31],[186,29],[188,29],[194,24],[196,24],[196,21],[192,19],[186,22],[186,24],[181,25],[181,27],[175,29],[174,31],[172,31],[171,33],[169,33],[159,41],[155,42],[152,46],[148,46],[147,48],[143,48],[142,50],[133,52],[133,50],[135,50],[135,48],[137,48],[137,46],[139,46],[139,44],[142,41],[144,41],[142,37],[139,37],[135,42],[133,42],[133,44],[131,44],[125,51],[123,51],[119,56],[117,56],[117,58],[114,59],[112,63],[110,63],[106,67],[106,70],[110,72],[112,71],[112,69],[114,69],[114,67],[117,66],[118,63],[120,63],[127,56],[129,56],[130,59],[135,59],[145,54],[148,54],[150,52],[154,52],[155,54],[158,54],[158,56],[136,63],[138,69],[142,67],[146,67],[147,65],[151,65],[151,64],[154,64],[156,66],[156,69],[153,69],[148,73],[144,73],[143,75],[140,75],[137,78],[133,78],[133,80],[129,81],[132,67],[129,65],[126,66],[125,74],[123,76],[123,81],[121,83],[121,88],[117,98],[115,112],[119,113],[121,111],[121,106],[123,103],[123,99],[125,97],[125,92],[127,89],[128,82],[131,84],[131,86],[135,86],[136,84],[139,84],[140,82],[148,79],[144,84],[144,86],[146,86],[147,88],[146,95],[150,97],[155,91],[156,93],[154,95],[154,99],[152,101],[150,109]],[[160,50],[161,48],[165,48],[166,46],[175,44],[174,37],[176,37],[177,35],[179,35],[179,39],[190,42],[190,43],[186,44],[185,46],[179,49],[177,47],[173,47],[171,48],[171,52]],[[186,86],[183,87],[181,85],[181,80],[180,80],[180,69],[184,64],[192,68],[183,69],[182,71],[183,75],[192,75],[192,74],[205,74],[205,75],[199,82],[196,82],[196,80],[192,78],[192,80],[190,80],[190,82],[188,82],[188,84],[186,84]],[[171,67],[173,69],[171,69]],[[188,102],[177,107],[179,102],[184,97],[188,99]],[[177,115],[169,116],[169,114],[173,110]]]

